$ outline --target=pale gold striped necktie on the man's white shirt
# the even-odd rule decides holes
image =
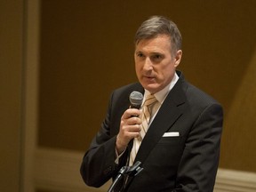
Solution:
[[[141,111],[141,121],[142,124],[140,124],[140,137],[139,138],[134,138],[133,140],[133,146],[132,146],[132,151],[130,154],[130,161],[129,165],[131,166],[134,163],[134,159],[137,155],[137,152],[140,148],[140,143],[142,142],[146,132],[148,131],[148,124],[150,122],[150,118],[152,116],[152,107],[154,104],[156,104],[157,100],[154,95],[149,94],[142,106],[142,111]]]

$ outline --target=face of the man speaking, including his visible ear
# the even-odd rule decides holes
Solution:
[[[152,94],[164,89],[171,83],[181,55],[179,50],[172,57],[169,36],[140,40],[134,52],[136,75],[140,84]]]

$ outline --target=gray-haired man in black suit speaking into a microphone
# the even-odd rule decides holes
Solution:
[[[138,29],[134,60],[140,83],[112,93],[108,114],[81,166],[87,185],[100,187],[124,165],[140,161],[143,170],[125,178],[122,191],[213,190],[222,108],[176,70],[181,41],[177,26],[164,17],[151,17]],[[148,106],[146,124],[147,109],[130,108],[132,91],[144,94],[142,108],[148,95],[156,100]]]

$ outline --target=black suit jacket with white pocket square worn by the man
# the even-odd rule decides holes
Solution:
[[[125,191],[200,191],[212,192],[220,156],[222,108],[212,97],[188,84],[184,76],[164,100],[135,161],[143,171],[128,180]],[[108,113],[92,140],[81,166],[89,186],[100,187],[115,178],[125,165],[129,150],[115,164],[116,134],[120,118],[129,108],[132,91],[144,92],[140,84],[129,84],[112,93]],[[164,132],[179,132],[179,137],[163,137]]]

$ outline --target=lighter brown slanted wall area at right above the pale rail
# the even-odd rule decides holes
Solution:
[[[237,86],[226,115],[227,131],[222,142],[221,163],[225,168],[255,172],[256,50]]]

